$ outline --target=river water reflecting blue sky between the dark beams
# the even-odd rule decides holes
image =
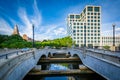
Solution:
[[[49,70],[67,70],[68,68],[60,64],[51,64]],[[68,80],[67,76],[46,77],[45,80]]]

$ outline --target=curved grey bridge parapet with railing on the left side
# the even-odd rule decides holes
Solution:
[[[26,60],[32,56],[35,59],[34,50],[28,51],[25,54],[18,55],[16,57],[8,60],[7,62],[5,62],[3,65],[0,66],[0,69],[1,69],[0,72],[2,72],[2,74],[0,74],[0,80],[4,75],[6,75],[8,73],[10,68],[13,68],[17,63],[19,63],[23,60]]]

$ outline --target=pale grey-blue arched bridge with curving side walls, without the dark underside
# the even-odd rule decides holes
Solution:
[[[22,80],[39,63],[41,57],[52,57],[57,53],[66,53],[66,57],[77,56],[85,66],[105,79],[120,80],[120,53],[93,49],[34,49],[2,54],[0,55],[0,80]],[[72,58],[69,61],[72,62]]]

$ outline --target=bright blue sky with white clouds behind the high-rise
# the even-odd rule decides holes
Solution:
[[[112,35],[112,24],[120,36],[120,0],[0,0],[0,34],[11,35],[17,24],[20,35],[35,39],[67,36],[68,14],[80,14],[86,5],[101,6],[102,35]]]

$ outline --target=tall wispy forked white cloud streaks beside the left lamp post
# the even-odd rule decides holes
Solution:
[[[41,24],[41,14],[37,8],[36,0],[34,0],[33,4],[33,10],[34,15],[28,15],[25,8],[19,8],[18,15],[23,23],[23,25],[20,25],[20,32],[21,34],[27,34],[29,37],[32,38],[32,24],[39,29],[39,26]]]

